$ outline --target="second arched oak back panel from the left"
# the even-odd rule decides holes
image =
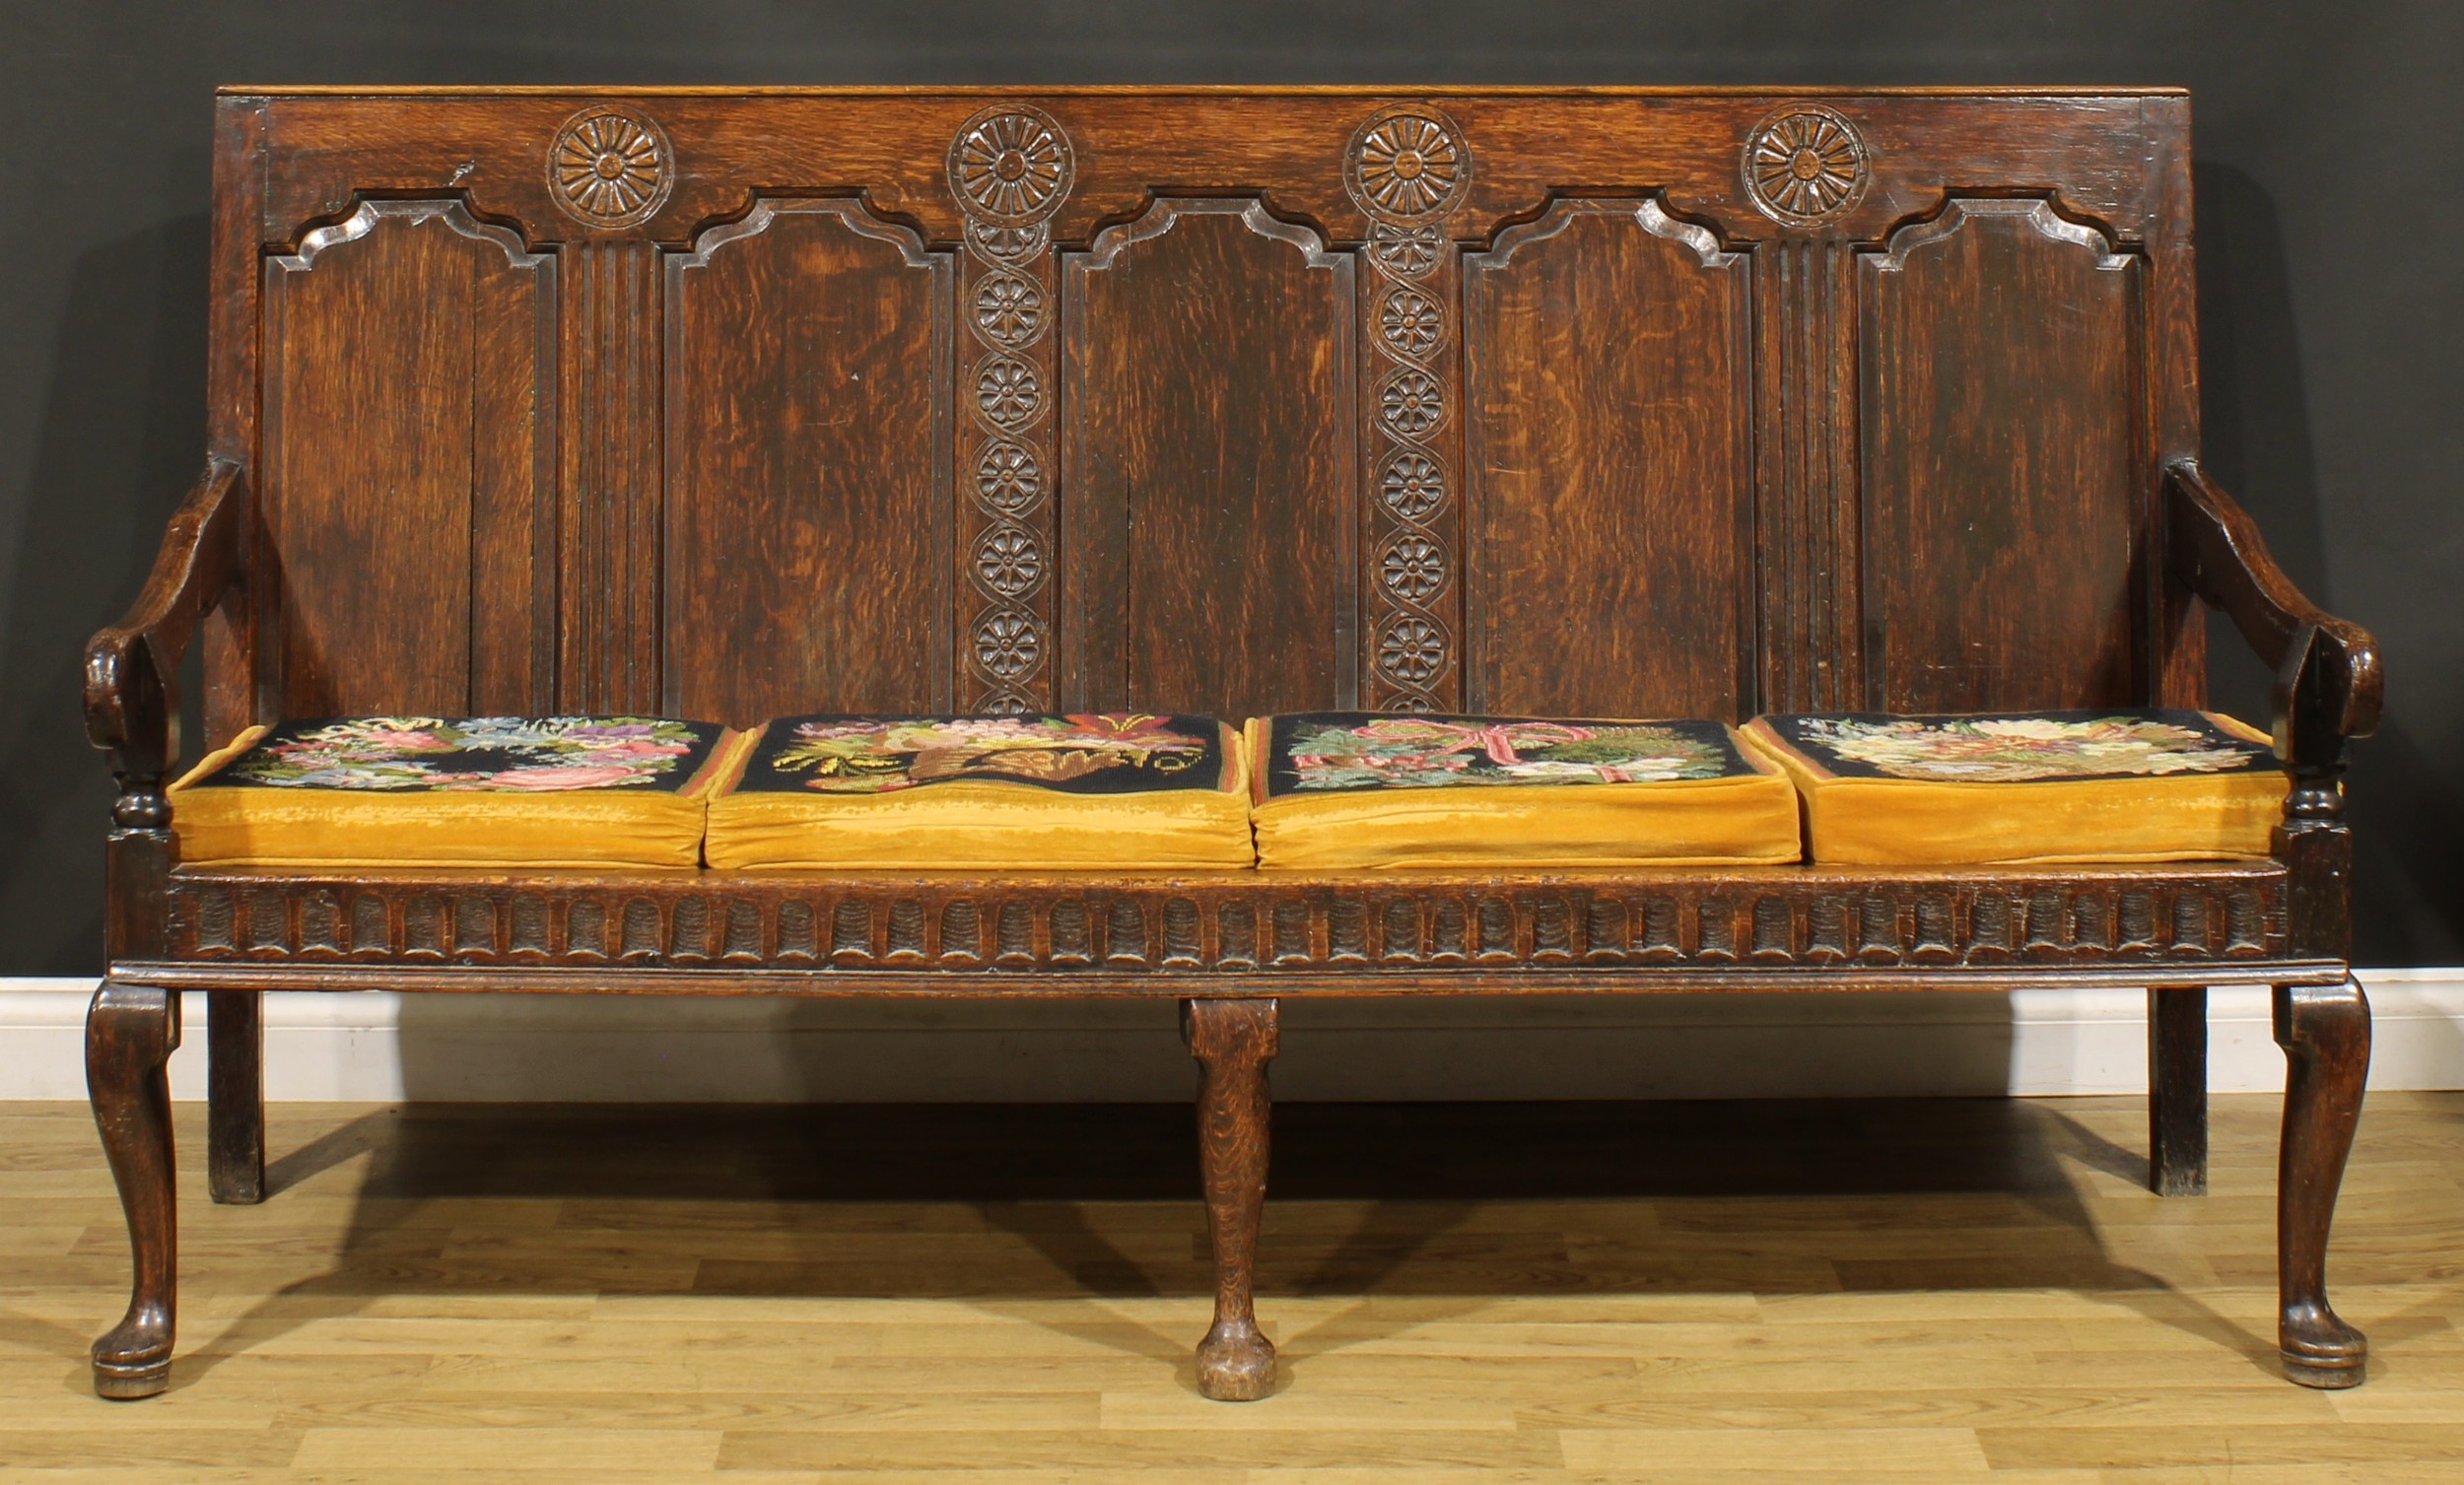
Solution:
[[[951,283],[850,199],[668,259],[670,714],[951,707]]]

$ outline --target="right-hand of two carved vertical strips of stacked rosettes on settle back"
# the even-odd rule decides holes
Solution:
[[[1471,148],[1439,108],[1395,103],[1353,131],[1343,185],[1370,219],[1360,345],[1375,475],[1365,549],[1368,685],[1380,712],[1459,704],[1454,589],[1456,360],[1446,217],[1471,190]]]

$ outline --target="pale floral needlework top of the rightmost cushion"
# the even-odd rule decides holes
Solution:
[[[1841,776],[2040,783],[2272,768],[2259,744],[2198,712],[2038,717],[1786,717],[1781,736]]]

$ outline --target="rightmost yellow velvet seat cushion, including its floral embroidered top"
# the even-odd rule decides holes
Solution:
[[[1757,717],[1745,741],[1804,795],[1816,862],[2264,857],[2284,813],[2267,734],[2215,712]]]

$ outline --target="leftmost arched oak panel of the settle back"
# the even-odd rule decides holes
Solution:
[[[554,259],[458,202],[360,202],[264,261],[269,712],[547,697],[554,313]]]

